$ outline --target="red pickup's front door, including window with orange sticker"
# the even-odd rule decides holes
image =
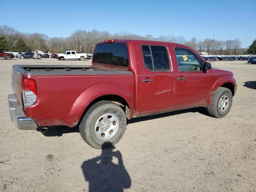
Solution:
[[[176,59],[176,88],[173,108],[187,108],[206,103],[212,87],[211,73],[202,71],[204,61],[186,47],[172,49]]]

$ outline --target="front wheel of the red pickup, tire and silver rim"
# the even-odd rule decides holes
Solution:
[[[222,118],[228,114],[232,106],[233,96],[225,87],[219,87],[212,96],[212,103],[207,107],[208,114],[215,118]]]

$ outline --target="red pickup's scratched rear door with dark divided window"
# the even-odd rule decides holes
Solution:
[[[136,44],[140,115],[170,110],[175,74],[168,45]]]

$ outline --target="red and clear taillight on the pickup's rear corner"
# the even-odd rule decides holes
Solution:
[[[36,81],[30,78],[22,77],[21,89],[24,108],[32,106],[36,102]]]

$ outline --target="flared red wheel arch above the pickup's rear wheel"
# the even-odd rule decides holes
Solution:
[[[72,126],[76,126],[82,117],[82,114],[84,113],[86,107],[96,98],[99,98],[101,96],[105,95],[117,95],[128,103],[130,107],[130,116],[132,116],[132,104],[133,104],[133,95],[130,90],[128,90],[125,86],[122,86],[117,83],[100,83],[95,84],[88,89],[86,89],[74,102],[70,113],[68,115],[68,119],[70,122],[74,122]]]

